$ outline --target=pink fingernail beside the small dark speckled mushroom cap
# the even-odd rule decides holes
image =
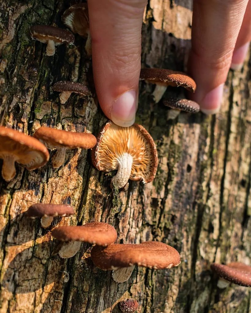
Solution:
[[[209,91],[200,101],[201,111],[205,114],[216,114],[221,107],[224,84]]]

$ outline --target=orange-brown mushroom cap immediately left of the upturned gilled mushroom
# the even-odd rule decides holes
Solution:
[[[97,139],[92,134],[63,131],[56,128],[40,127],[33,135],[49,149],[65,146],[68,149],[90,149],[95,146]]]

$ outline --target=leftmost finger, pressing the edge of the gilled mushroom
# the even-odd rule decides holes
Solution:
[[[135,121],[145,4],[146,0],[88,1],[97,96],[105,115],[119,126]]]

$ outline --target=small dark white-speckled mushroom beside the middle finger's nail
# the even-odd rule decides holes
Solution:
[[[170,120],[175,119],[180,114],[180,111],[189,113],[197,113],[200,111],[198,103],[187,99],[169,98],[168,100],[163,101],[163,104],[172,108],[172,110],[168,111],[168,119]]]

